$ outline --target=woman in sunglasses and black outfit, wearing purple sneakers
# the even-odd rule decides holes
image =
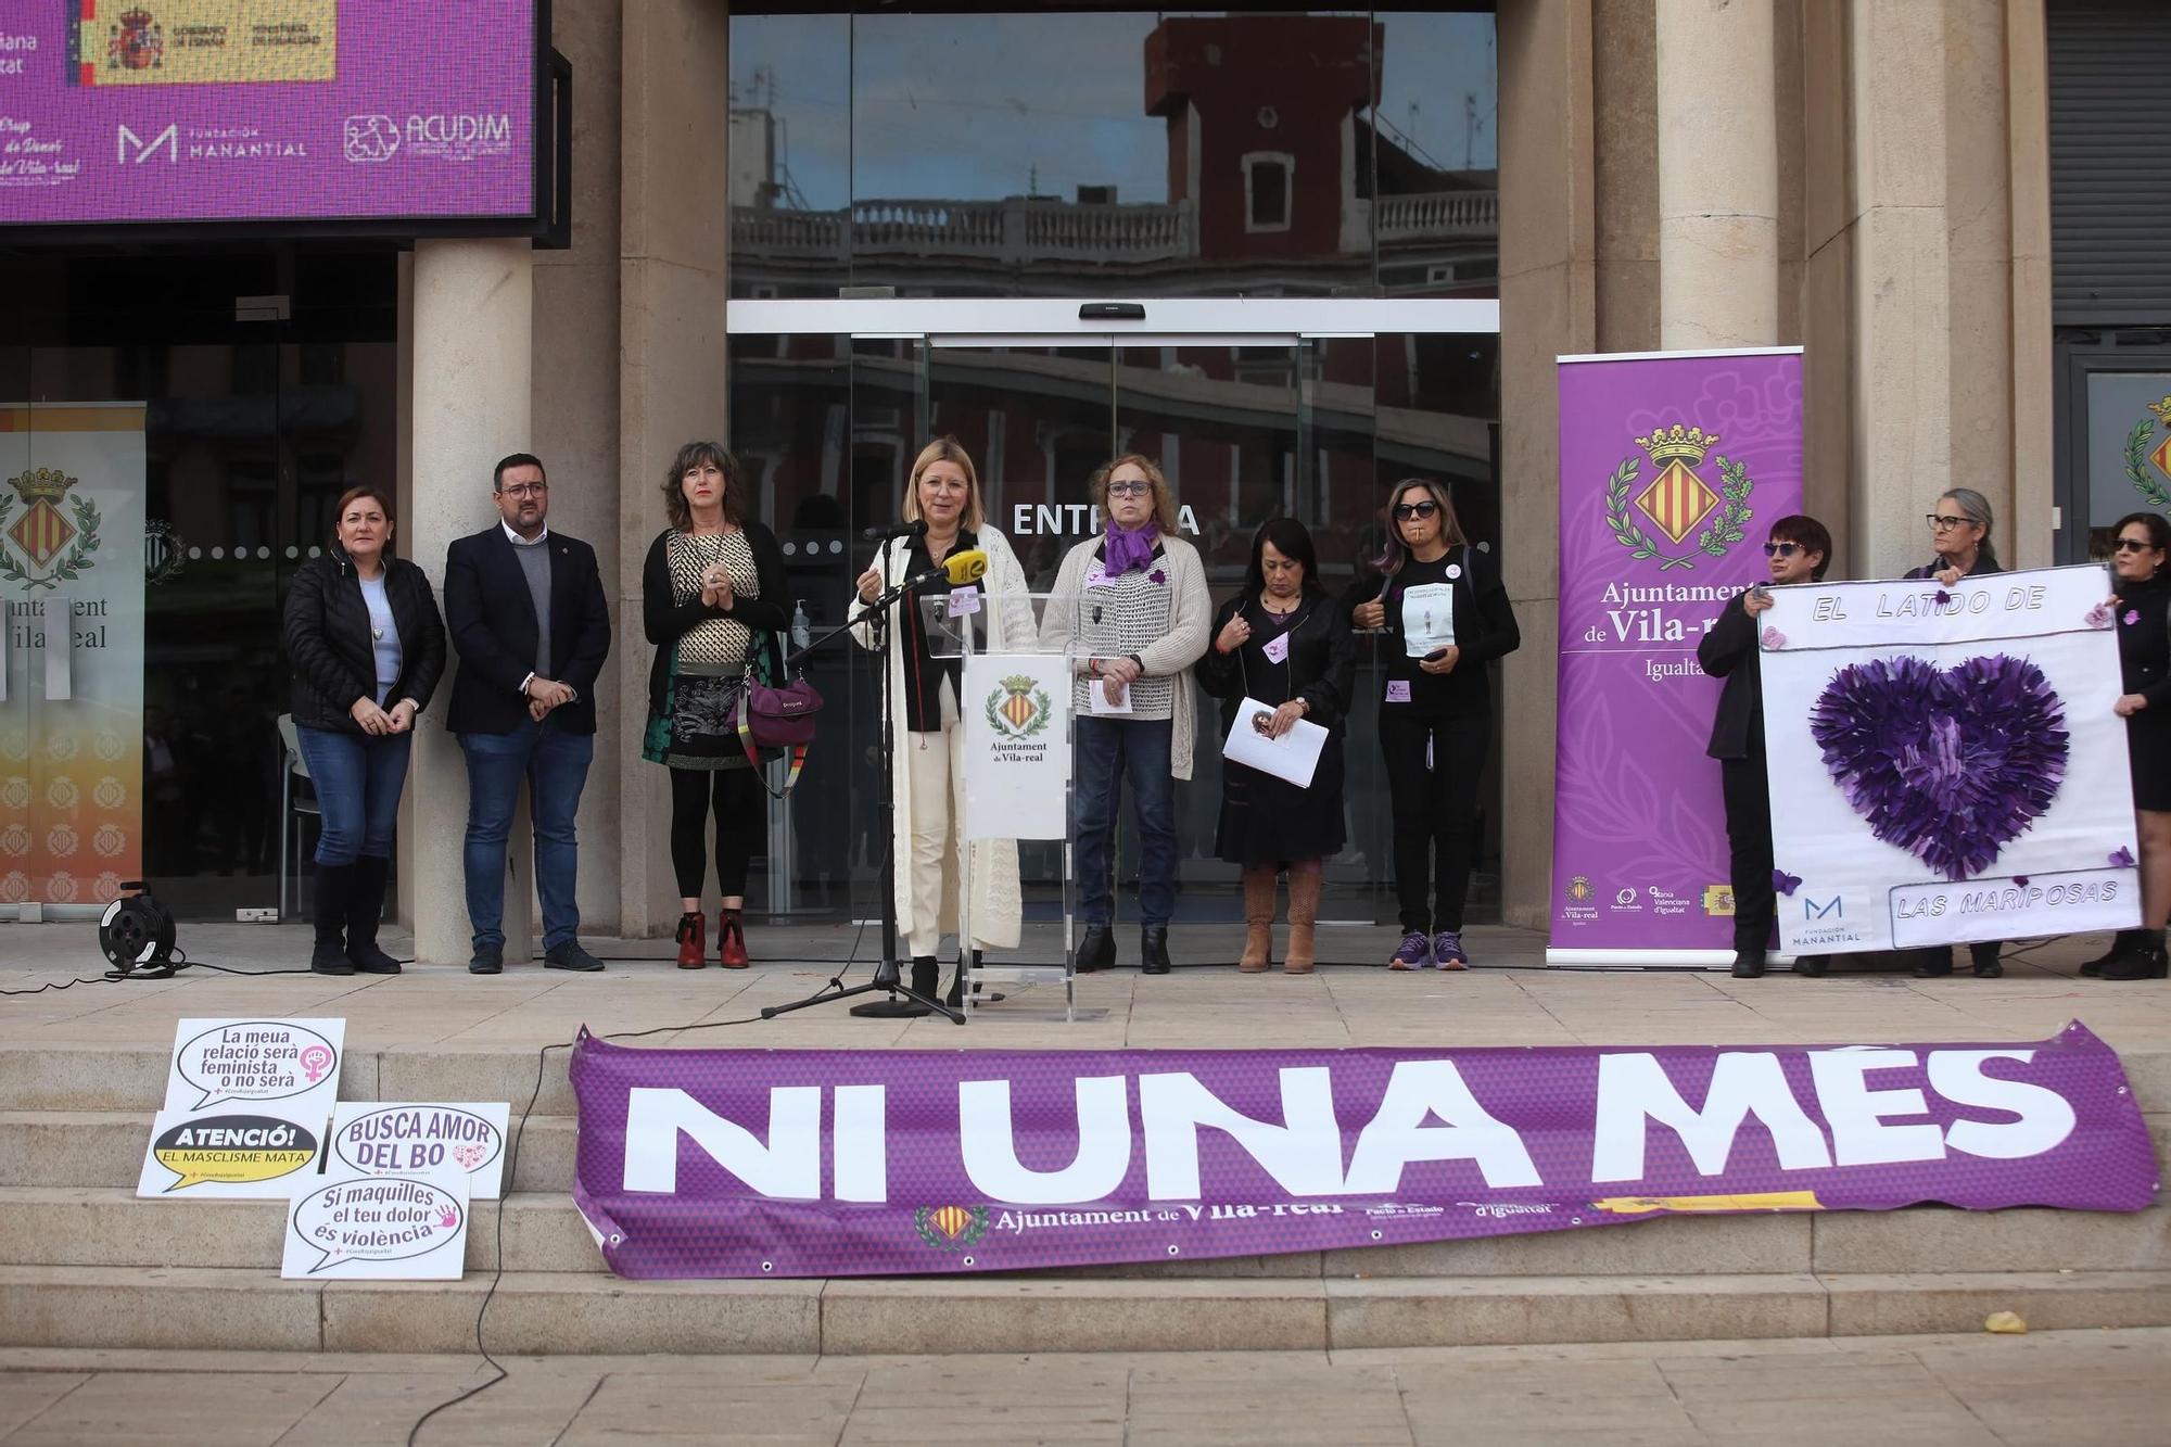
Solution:
[[[1498,567],[1463,537],[1439,482],[1394,485],[1379,571],[1379,595],[1357,604],[1353,621],[1392,639],[1379,747],[1394,795],[1402,943],[1387,969],[1465,969],[1463,902],[1476,858],[1478,778],[1491,750],[1485,665],[1515,652],[1522,632]]]

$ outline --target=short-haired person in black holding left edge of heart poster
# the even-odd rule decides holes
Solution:
[[[1772,524],[1765,543],[1772,582],[1824,582],[1832,558],[1832,534],[1815,517],[1793,515]],[[1765,771],[1763,684],[1756,652],[1756,621],[1772,608],[1772,589],[1759,582],[1735,593],[1698,645],[1696,663],[1724,678],[1719,708],[1711,719],[1704,754],[1719,760],[1719,795],[1726,800],[1726,845],[1735,889],[1735,980],[1763,976],[1778,899],[1772,893],[1772,791]],[[1821,976],[1826,956],[1798,960],[1804,976]]]

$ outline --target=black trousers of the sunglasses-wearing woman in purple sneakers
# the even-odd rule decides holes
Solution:
[[[1402,930],[1461,930],[1476,863],[1478,778],[1491,750],[1491,710],[1413,719],[1379,713],[1379,747],[1394,800],[1394,893]]]

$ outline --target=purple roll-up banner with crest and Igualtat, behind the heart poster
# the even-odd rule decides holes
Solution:
[[[1802,348],[1563,356],[1554,965],[1732,960],[1696,643],[1802,511]]]

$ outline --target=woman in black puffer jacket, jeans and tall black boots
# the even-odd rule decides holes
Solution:
[[[378,949],[393,819],[406,787],[415,715],[445,674],[445,621],[419,567],[389,556],[391,498],[352,487],[334,511],[332,548],[287,591],[291,713],[317,787],[317,945],[321,976],[397,976]]]

